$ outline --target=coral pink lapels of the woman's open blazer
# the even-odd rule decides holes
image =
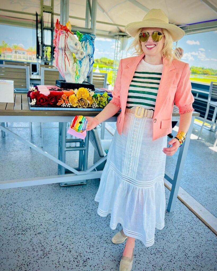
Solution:
[[[129,86],[133,78],[133,75],[135,73],[136,66],[138,65],[138,63],[144,56],[145,56],[145,53],[139,56],[132,57],[132,60],[129,59],[129,62],[125,64],[125,66],[122,67],[122,87],[121,88],[123,88],[123,91],[121,92],[121,95],[123,99],[122,109],[124,109],[124,111],[126,108]],[[162,76],[161,76],[161,80],[160,80],[160,84],[158,88],[158,93],[156,96],[155,111],[154,111],[153,118],[158,114],[161,107],[164,105],[164,102],[167,99],[170,87],[173,84],[175,74],[176,74],[176,69],[173,63],[171,62],[169,66],[166,66],[165,64],[167,64],[167,62],[168,60],[165,57],[163,57],[163,70],[162,70]]]

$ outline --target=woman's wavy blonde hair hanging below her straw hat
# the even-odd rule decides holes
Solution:
[[[141,54],[144,53],[143,50],[142,50],[141,41],[140,41],[139,36],[138,36],[139,33],[142,32],[142,29],[143,29],[143,27],[138,29],[134,40],[132,41],[132,43],[130,44],[129,48],[127,49],[127,52],[130,49],[134,50],[132,56],[134,54],[141,55]],[[162,31],[165,34],[165,42],[164,42],[163,49],[161,51],[161,56],[162,57],[165,56],[166,59],[169,60],[168,61],[168,65],[170,65],[170,63],[172,62],[173,59],[179,60],[179,58],[175,54],[175,49],[173,49],[173,39],[172,39],[170,33],[165,28],[162,28]]]

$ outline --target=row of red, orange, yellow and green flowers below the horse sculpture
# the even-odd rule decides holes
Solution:
[[[53,95],[50,93],[48,96],[40,93],[36,87],[31,87],[27,96],[31,98],[30,105],[52,106],[52,107],[75,107],[75,108],[97,108],[105,107],[110,101],[111,97],[107,92],[100,95],[88,88],[73,89],[74,94],[66,96]]]

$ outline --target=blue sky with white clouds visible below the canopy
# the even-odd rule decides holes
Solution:
[[[4,40],[9,45],[18,44],[27,49],[36,44],[36,30],[21,28],[10,25],[0,26],[0,43]],[[132,42],[129,39],[128,46]],[[190,66],[199,66],[217,69],[217,30],[199,34],[185,35],[178,41],[177,47],[184,50],[182,61]],[[175,43],[174,43],[175,45]],[[108,57],[114,59],[115,40],[112,38],[95,38],[94,58]],[[128,48],[127,46],[127,48]],[[126,51],[123,51],[121,58],[125,58]]]

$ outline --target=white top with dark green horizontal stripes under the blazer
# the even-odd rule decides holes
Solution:
[[[163,64],[152,65],[142,58],[129,86],[126,108],[141,106],[155,109]]]

